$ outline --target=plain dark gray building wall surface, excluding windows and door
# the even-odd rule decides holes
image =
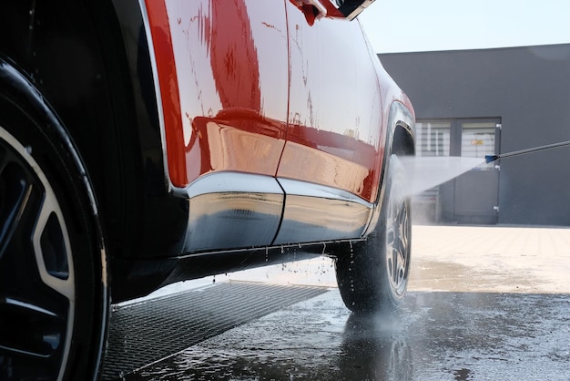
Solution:
[[[570,44],[379,55],[416,118],[502,118],[500,152],[570,140]],[[570,226],[570,148],[500,160],[499,223]]]

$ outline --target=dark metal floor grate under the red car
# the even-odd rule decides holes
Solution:
[[[111,315],[103,379],[120,379],[188,346],[327,290],[232,282],[122,306]]]

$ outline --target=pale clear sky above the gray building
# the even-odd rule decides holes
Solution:
[[[376,53],[570,43],[569,0],[375,0],[359,18]]]

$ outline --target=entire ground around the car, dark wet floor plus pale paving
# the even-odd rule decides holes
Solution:
[[[412,233],[394,314],[351,314],[323,257],[176,284],[115,306],[104,379],[568,379],[570,229]]]

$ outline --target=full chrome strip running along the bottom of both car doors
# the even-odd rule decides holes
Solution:
[[[184,252],[358,239],[373,204],[299,180],[215,172],[188,186]]]

